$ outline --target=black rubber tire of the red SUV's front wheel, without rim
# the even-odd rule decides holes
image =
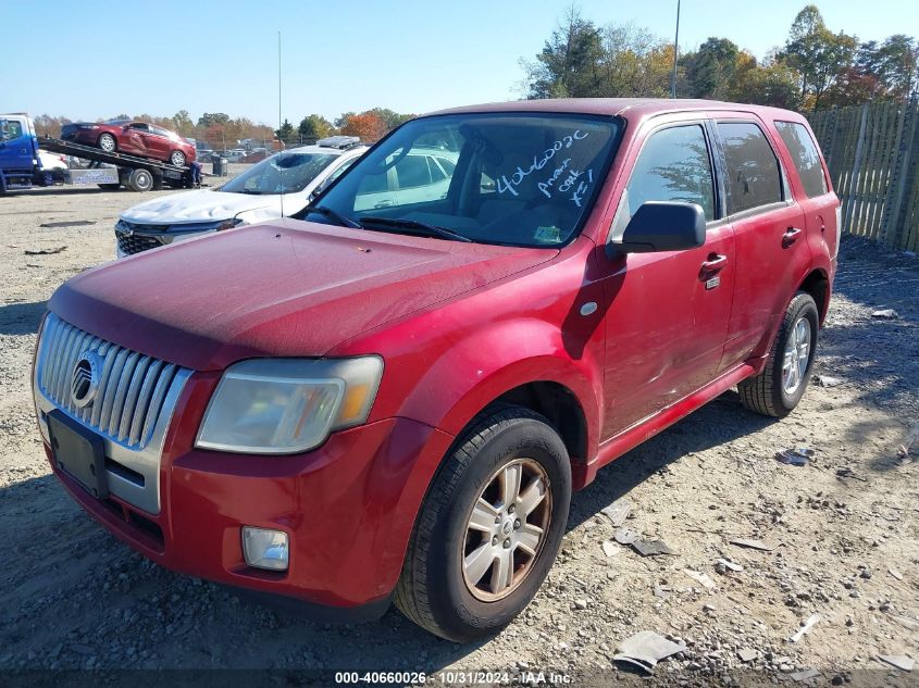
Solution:
[[[469,543],[469,518],[497,473],[521,459],[543,471],[549,484],[545,506],[539,506],[545,510],[544,517],[548,514],[548,522],[544,522],[544,535],[529,564],[519,565],[513,553],[519,552],[517,546],[511,550],[510,570],[526,571],[513,584],[517,587],[511,586],[506,597],[482,601],[471,592],[463,573],[462,558],[469,556],[463,553]],[[499,630],[530,603],[545,580],[564,535],[570,502],[568,452],[545,417],[520,406],[492,409],[480,415],[454,445],[432,481],[396,587],[396,605],[422,628],[457,642]],[[513,509],[507,512],[511,515],[506,517],[519,515]],[[524,515],[523,521],[526,518]],[[520,521],[514,528],[519,526]],[[483,535],[479,546],[484,547],[489,537]],[[530,558],[525,551],[523,554]],[[490,566],[487,571],[494,575]]]

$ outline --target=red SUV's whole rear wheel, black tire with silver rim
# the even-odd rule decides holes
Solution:
[[[741,402],[747,409],[777,418],[783,418],[794,410],[810,379],[819,326],[817,303],[809,293],[798,291],[785,310],[766,367],[759,375],[737,385]],[[806,358],[802,358],[805,343]],[[794,349],[795,354],[786,361],[790,349]],[[794,373],[790,374],[791,365],[796,362]]]

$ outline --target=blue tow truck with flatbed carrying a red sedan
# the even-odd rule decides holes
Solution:
[[[0,114],[0,195],[34,186],[50,186],[54,179],[42,165],[39,151],[86,160],[86,168],[65,170],[64,184],[98,185],[103,189],[127,188],[149,191],[163,186],[175,188],[191,184],[190,167],[178,167],[120,152],[107,153],[92,146],[55,138],[39,138],[32,117],[23,112]]]

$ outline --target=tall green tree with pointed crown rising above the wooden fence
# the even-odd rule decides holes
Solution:
[[[798,86],[805,107],[816,109],[853,63],[858,41],[843,32],[834,34],[823,22],[817,5],[798,12],[779,60],[798,73]]]

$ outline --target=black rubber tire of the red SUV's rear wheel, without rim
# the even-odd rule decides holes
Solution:
[[[797,388],[788,393],[782,384],[785,346],[788,342],[788,337],[792,336],[792,328],[802,318],[806,318],[810,325],[810,348],[807,366],[800,376],[800,381]],[[785,315],[779,326],[779,334],[775,336],[775,341],[772,342],[766,367],[759,375],[748,377],[737,385],[741,402],[747,409],[777,418],[783,418],[794,410],[804,396],[810,379],[810,368],[814,366],[814,358],[817,353],[819,323],[820,317],[814,297],[804,291],[798,291],[785,310]]]

